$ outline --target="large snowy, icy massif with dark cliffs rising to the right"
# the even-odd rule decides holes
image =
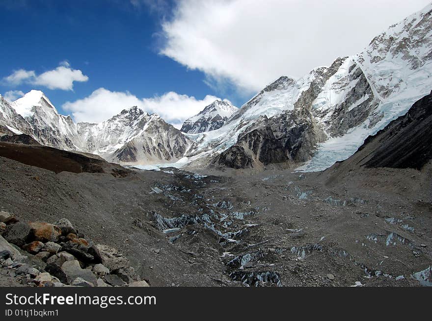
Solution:
[[[431,12],[432,4],[328,68],[280,77],[221,128],[189,135],[189,162],[239,168],[309,159],[299,170],[317,171],[346,159],[430,92]]]

